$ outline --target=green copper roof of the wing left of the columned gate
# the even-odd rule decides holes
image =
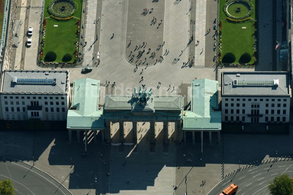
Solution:
[[[81,78],[73,81],[71,107],[68,110],[67,128],[104,128],[103,110],[99,109],[100,81]]]

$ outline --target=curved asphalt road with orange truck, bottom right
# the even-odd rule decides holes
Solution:
[[[276,176],[285,173],[293,177],[293,161],[280,159],[277,162],[263,163],[241,170],[220,182],[208,195],[219,195],[231,183],[238,185],[237,195],[269,194],[268,184]]]

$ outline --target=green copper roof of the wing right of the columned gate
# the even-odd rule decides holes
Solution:
[[[218,109],[218,81],[201,79],[191,82],[191,111],[184,111],[183,129],[221,129]]]

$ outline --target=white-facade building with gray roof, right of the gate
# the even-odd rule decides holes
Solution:
[[[223,72],[222,122],[289,122],[289,72]]]

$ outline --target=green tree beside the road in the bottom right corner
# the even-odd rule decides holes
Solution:
[[[287,174],[277,176],[270,182],[268,189],[272,195],[293,195],[293,178],[290,178]]]

